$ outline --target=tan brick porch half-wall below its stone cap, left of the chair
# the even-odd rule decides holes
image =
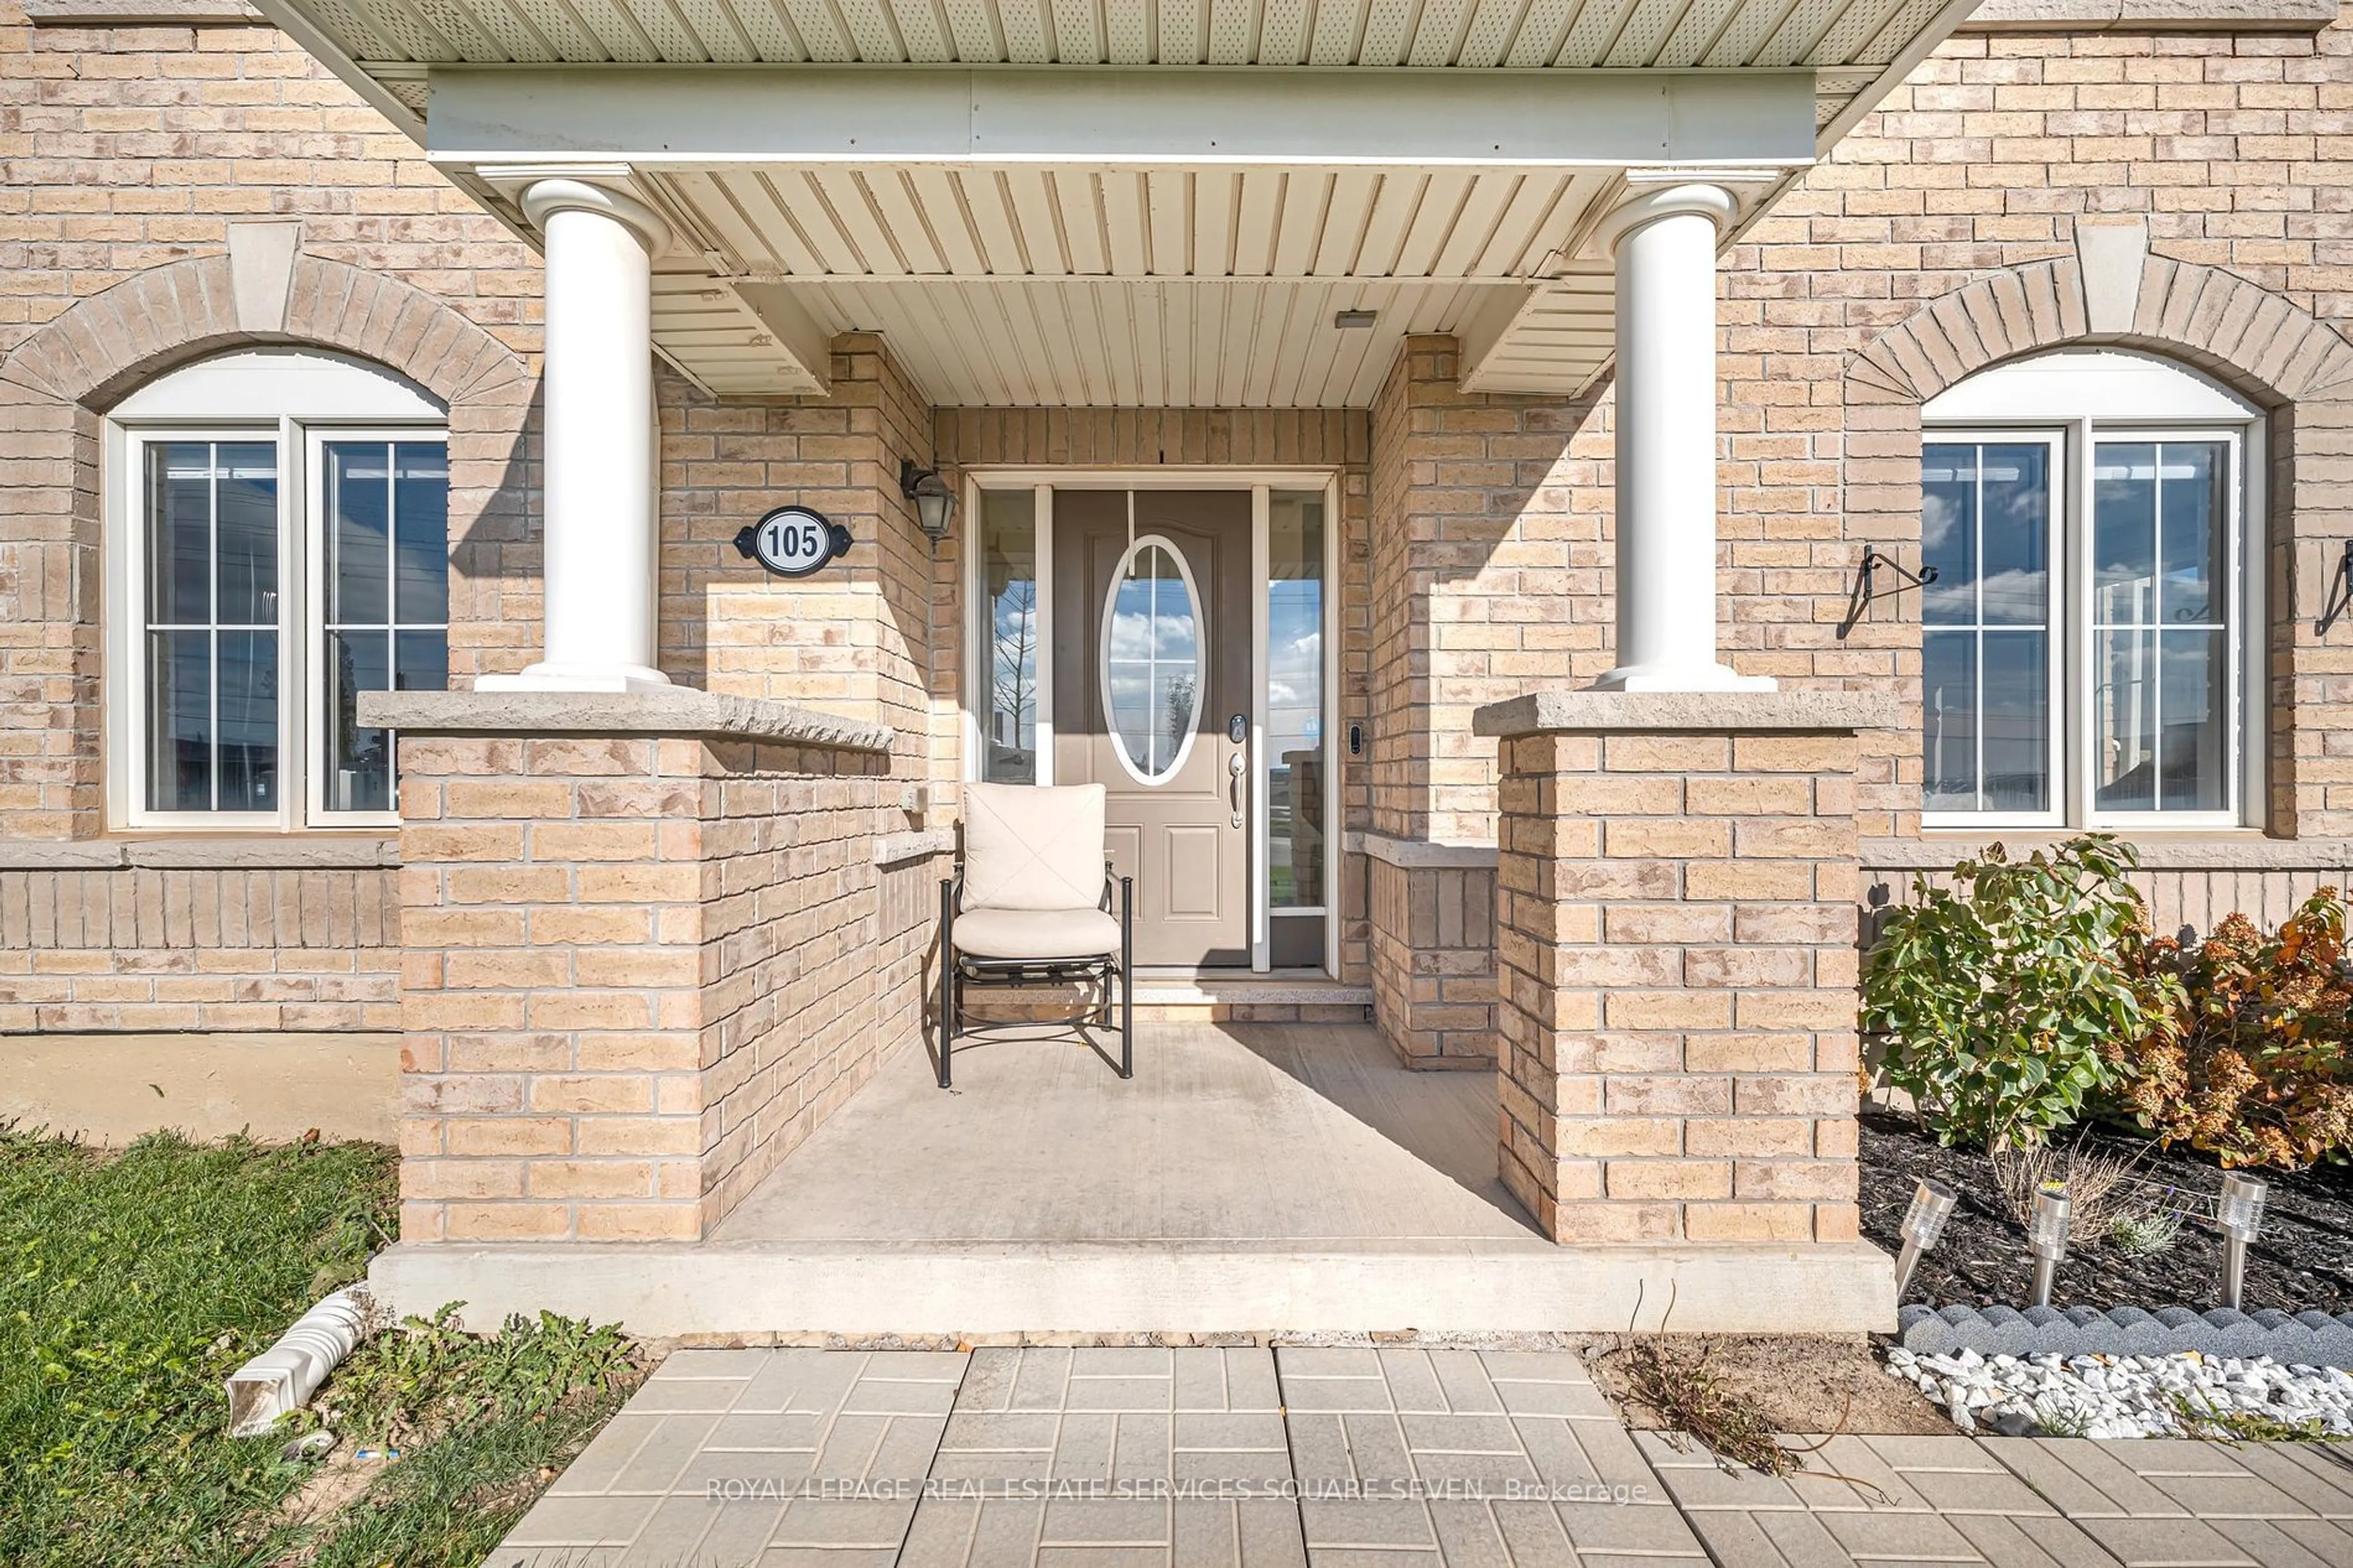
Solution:
[[[704,1236],[920,1019],[887,758],[409,737],[402,1236]]]

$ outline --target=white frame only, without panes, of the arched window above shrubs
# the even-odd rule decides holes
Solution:
[[[2089,393],[2089,396],[2087,396]],[[1944,405],[1939,410],[1939,403]],[[2104,412],[2089,412],[2089,407]],[[2017,417],[1995,417],[2014,410]],[[1929,812],[1922,829],[2238,831],[2261,824],[2268,711],[2264,666],[2266,421],[2259,410],[2177,365],[2127,353],[2057,353],[1981,372],[1922,410],[1925,447],[1939,440],[2054,440],[2052,469],[2052,810]],[[2097,805],[2097,664],[2092,647],[2094,459],[2101,445],[2219,440],[2228,454],[2224,551],[2231,607],[2224,638],[2224,810],[2101,810]]]

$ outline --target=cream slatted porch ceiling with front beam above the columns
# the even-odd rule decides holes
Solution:
[[[1631,188],[1753,219],[1974,0],[256,2],[518,231],[548,174],[661,212],[711,393],[878,330],[939,405],[1362,407],[1409,332],[1586,386]]]

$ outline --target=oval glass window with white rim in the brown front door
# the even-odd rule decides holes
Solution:
[[[1104,713],[1139,784],[1165,784],[1193,749],[1200,706],[1200,593],[1160,534],[1127,546],[1104,603]]]

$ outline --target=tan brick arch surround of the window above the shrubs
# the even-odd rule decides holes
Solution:
[[[1920,405],[2005,360],[2045,348],[2139,348],[2202,370],[2268,412],[2266,713],[2268,803],[2259,819],[2294,838],[2353,836],[2353,770],[2322,737],[2353,730],[2353,695],[2313,619],[2353,537],[2353,339],[2311,311],[2217,266],[2151,254],[2129,332],[2092,332],[2075,257],[1986,273],[1927,301],[1847,358],[1847,539],[1915,560]],[[1894,756],[1866,765],[1871,805],[1911,831],[1920,810],[1918,596],[1873,605],[1857,643],[1892,647],[1911,671]],[[2332,791],[2334,784],[2334,791]]]

